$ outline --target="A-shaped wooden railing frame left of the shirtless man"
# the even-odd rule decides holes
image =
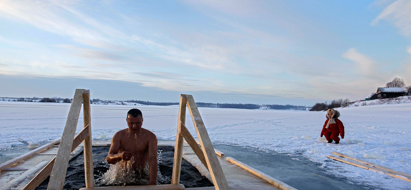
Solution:
[[[84,104],[83,118],[84,127],[74,138],[77,123],[80,117],[81,105]],[[68,112],[66,125],[63,130],[57,155],[37,174],[25,187],[24,190],[32,190],[37,187],[47,176],[50,180],[47,189],[63,189],[66,178],[67,166],[70,153],[84,141],[84,169],[86,187],[94,187],[94,174],[91,151],[91,113],[90,113],[90,90],[76,89],[70,110]],[[48,144],[48,147],[56,144],[55,141]]]

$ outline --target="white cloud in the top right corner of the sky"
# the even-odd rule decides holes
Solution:
[[[371,25],[377,25],[380,20],[393,23],[405,36],[411,37],[411,1],[398,0],[390,4],[371,22]]]

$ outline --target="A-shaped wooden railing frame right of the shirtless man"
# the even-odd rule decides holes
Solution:
[[[197,132],[197,137],[200,146],[194,140],[189,130],[185,127],[185,107],[189,108],[191,119],[193,120],[194,128]],[[209,170],[213,180],[215,189],[230,189],[226,176],[224,175],[220,162],[215,154],[213,144],[211,143],[206,126],[201,119],[200,112],[192,95],[181,94],[180,105],[178,112],[176,146],[174,152],[173,176],[172,184],[179,184],[181,160],[183,151],[183,138],[187,141],[194,153],[200,161]]]

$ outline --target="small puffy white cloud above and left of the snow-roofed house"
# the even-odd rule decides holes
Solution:
[[[358,73],[368,77],[372,77],[376,74],[375,62],[371,58],[368,58],[368,56],[357,52],[356,49],[349,49],[343,54],[343,57],[356,63]]]

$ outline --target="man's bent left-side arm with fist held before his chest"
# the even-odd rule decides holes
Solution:
[[[121,135],[119,131],[116,132],[116,134],[113,136],[113,139],[111,139],[111,146],[108,150],[108,155],[106,157],[106,161],[108,163],[115,164],[120,160],[130,160],[132,158],[133,155],[129,154],[128,151],[123,151],[122,153],[119,153],[120,145]]]

